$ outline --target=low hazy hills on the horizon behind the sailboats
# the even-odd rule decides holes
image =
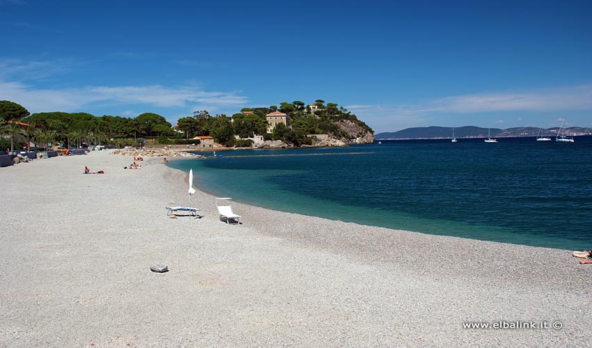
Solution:
[[[398,132],[383,132],[376,134],[376,140],[394,140],[394,139],[446,139],[452,138],[452,130],[457,138],[486,138],[488,129],[474,126],[464,127],[412,127],[400,130]],[[541,135],[556,136],[559,127],[543,129]],[[519,137],[519,136],[537,136],[539,129],[537,127],[515,127],[508,129],[492,128],[490,133],[492,137]],[[570,127],[566,129],[568,135],[590,135],[591,128]]]

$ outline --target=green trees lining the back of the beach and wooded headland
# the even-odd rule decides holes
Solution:
[[[352,120],[372,132],[372,129],[338,104],[316,100],[311,109],[304,102],[282,102],[279,106],[244,108],[228,117],[224,114],[211,116],[206,110],[195,111],[192,116],[180,118],[175,129],[157,113],[142,113],[135,118],[120,116],[93,116],[90,113],[42,112],[32,115],[20,104],[0,101],[0,131],[10,136],[10,150],[15,143],[28,146],[29,140],[47,148],[50,143],[65,146],[83,144],[143,145],[146,139],[157,143],[197,143],[196,136],[212,136],[217,143],[227,147],[250,145],[249,141],[235,139],[263,135],[265,140],[281,140],[295,146],[311,144],[310,134],[331,134],[348,138],[335,124],[338,120]],[[245,112],[249,111],[249,112]],[[273,111],[286,113],[288,127],[276,125],[272,134],[267,133],[266,115]],[[26,123],[22,127],[17,122]],[[2,148],[8,148],[8,140],[2,138]]]

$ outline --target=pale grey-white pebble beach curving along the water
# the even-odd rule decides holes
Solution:
[[[91,152],[0,168],[0,347],[591,345],[592,264],[570,251],[240,203],[242,225],[227,226],[203,191],[201,219],[170,219],[187,173],[131,162]]]

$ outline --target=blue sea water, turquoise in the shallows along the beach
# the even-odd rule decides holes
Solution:
[[[592,137],[219,153],[170,166],[193,168],[204,191],[260,207],[434,235],[592,248]]]

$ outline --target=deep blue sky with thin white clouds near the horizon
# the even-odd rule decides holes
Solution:
[[[173,124],[322,99],[377,133],[592,127],[591,18],[587,0],[0,0],[0,100]]]

